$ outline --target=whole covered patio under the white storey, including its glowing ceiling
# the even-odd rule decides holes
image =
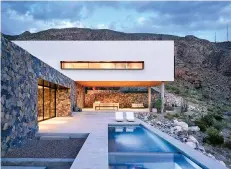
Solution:
[[[162,81],[77,81],[77,107],[82,111],[151,112],[154,102],[164,105]],[[152,87],[160,86],[160,94]]]

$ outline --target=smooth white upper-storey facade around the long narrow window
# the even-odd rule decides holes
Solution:
[[[13,41],[75,81],[173,81],[173,41]],[[144,61],[143,70],[62,70],[60,61]]]

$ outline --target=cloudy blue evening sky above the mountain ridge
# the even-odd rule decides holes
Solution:
[[[231,2],[2,2],[2,32],[81,27],[226,40]]]

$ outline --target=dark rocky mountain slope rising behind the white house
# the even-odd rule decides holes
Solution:
[[[86,28],[4,36],[10,40],[174,40],[176,80],[168,88],[176,94],[231,109],[231,42],[212,43],[191,35],[178,37]]]

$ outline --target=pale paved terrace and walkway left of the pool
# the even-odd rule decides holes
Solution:
[[[128,122],[116,122],[114,113],[81,112],[40,122],[39,133],[89,133],[71,169],[108,169],[109,123]]]

